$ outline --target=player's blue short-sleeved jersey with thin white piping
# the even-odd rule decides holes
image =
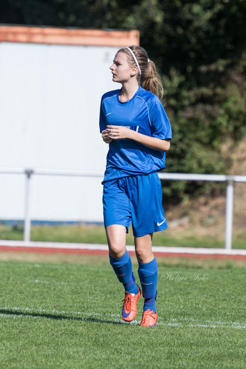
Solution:
[[[100,107],[100,133],[107,125],[122,125],[146,136],[171,139],[171,126],[160,100],[138,87],[132,99],[122,103],[120,90],[105,93]],[[102,184],[108,186],[119,178],[159,172],[165,168],[166,153],[150,149],[129,138],[109,144]]]

